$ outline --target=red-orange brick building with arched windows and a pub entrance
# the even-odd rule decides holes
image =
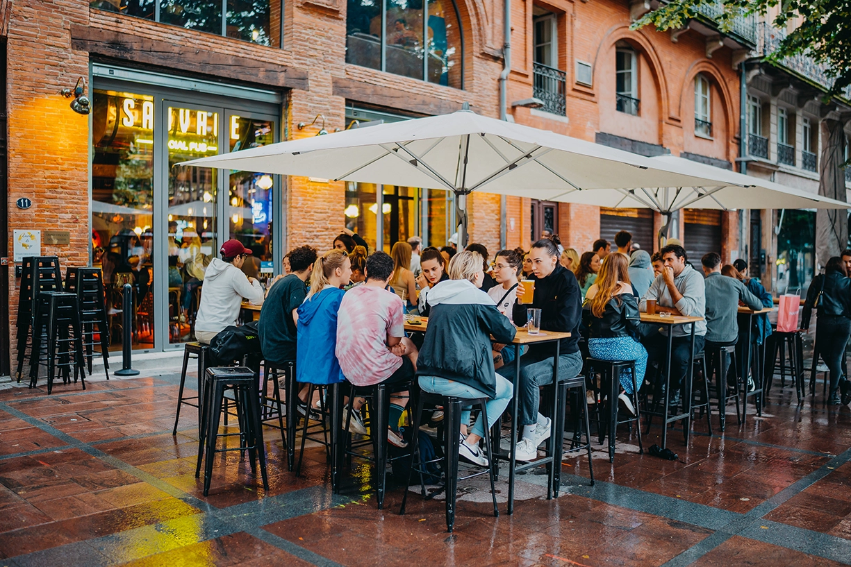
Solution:
[[[730,167],[739,151],[737,65],[752,45],[748,28],[722,37],[707,17],[675,33],[631,31],[644,6],[514,0],[509,119]],[[10,326],[15,230],[40,230],[41,253],[59,256],[63,268],[102,266],[107,287],[130,277],[134,344],[156,350],[190,336],[204,262],[227,238],[254,249],[261,279],[282,271],[286,249],[330,247],[344,226],[370,247],[389,250],[411,235],[442,246],[454,232],[454,203],[442,191],[172,166],[464,102],[500,116],[502,3],[3,0],[0,15]],[[73,93],[60,94],[78,84],[89,115],[69,108]],[[511,105],[531,98],[545,99],[544,107]],[[32,206],[16,207],[20,197]],[[545,228],[580,252],[601,234],[610,238],[613,227],[634,230],[651,248],[660,226],[644,211],[487,194],[471,196],[468,207],[471,239],[491,251],[528,248]],[[687,247],[694,235],[728,258],[738,249],[734,218],[686,212],[674,232]],[[59,243],[64,235],[67,244]],[[3,337],[4,360],[8,343]]]

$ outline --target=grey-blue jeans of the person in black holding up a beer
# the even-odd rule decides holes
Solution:
[[[540,386],[552,383],[552,356],[539,359],[534,352],[520,357],[520,379],[517,381],[518,425],[533,425],[538,422]],[[508,379],[514,377],[514,363],[500,368]],[[579,351],[558,357],[558,376],[573,378],[582,373],[582,355]]]

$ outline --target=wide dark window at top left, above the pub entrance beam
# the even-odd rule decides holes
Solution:
[[[89,6],[279,48],[283,29],[282,2],[283,0],[89,0]]]

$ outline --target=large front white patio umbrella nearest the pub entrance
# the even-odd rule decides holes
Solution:
[[[458,196],[462,245],[465,196],[475,190],[548,199],[570,191],[705,184],[705,179],[665,162],[469,110],[296,139],[180,165],[452,190]],[[615,196],[610,202],[618,199]]]

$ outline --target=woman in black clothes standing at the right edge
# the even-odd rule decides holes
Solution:
[[[851,402],[851,383],[842,377],[842,358],[851,335],[851,280],[842,258],[827,261],[825,274],[817,275],[809,285],[803,304],[802,328],[809,327],[809,318],[818,303],[819,317],[815,324],[816,342],[821,359],[831,370],[831,394],[828,405]],[[842,377],[842,383],[840,383]],[[842,388],[842,400],[838,389]]]

